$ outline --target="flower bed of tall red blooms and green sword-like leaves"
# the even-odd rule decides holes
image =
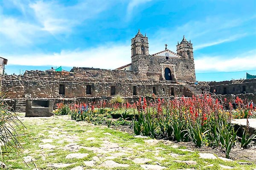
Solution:
[[[221,104],[222,103],[222,104]],[[177,142],[193,142],[197,147],[203,145],[221,147],[229,157],[230,150],[237,142],[237,131],[231,124],[233,118],[250,118],[255,114],[253,105],[245,104],[236,98],[236,108],[229,103],[229,109],[224,110],[227,104],[213,99],[211,96],[193,96],[192,98],[175,98],[164,100],[154,95],[148,99],[140,98],[134,104],[113,102],[112,108],[105,108],[105,103],[98,105],[85,103],[70,104],[70,115],[74,120],[105,123],[111,125],[132,125],[136,135],[152,138],[166,138]],[[61,106],[65,108],[65,106]],[[59,108],[58,111],[61,111]],[[67,108],[65,108],[67,110]],[[117,120],[113,113],[119,113]],[[128,121],[127,119],[131,119]],[[247,147],[256,135],[248,135],[249,123],[243,130],[241,147]]]

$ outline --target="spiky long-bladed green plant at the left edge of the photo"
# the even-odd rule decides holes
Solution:
[[[17,114],[3,100],[0,95],[0,156],[8,153],[18,153],[22,148],[19,138],[24,132],[25,126],[17,117]],[[3,161],[3,160],[2,160]]]

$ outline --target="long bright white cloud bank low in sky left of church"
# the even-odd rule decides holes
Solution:
[[[131,62],[129,45],[104,45],[97,48],[61,51],[54,54],[7,56],[8,65],[62,65],[115,69]]]

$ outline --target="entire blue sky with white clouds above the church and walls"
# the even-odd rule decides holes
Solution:
[[[255,0],[2,0],[0,56],[8,74],[115,69],[131,62],[138,28],[149,54],[191,40],[198,81],[256,75]]]

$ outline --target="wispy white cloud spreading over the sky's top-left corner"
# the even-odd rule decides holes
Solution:
[[[100,1],[78,1],[73,6],[64,6],[59,1],[16,1],[10,4],[21,11],[21,16],[2,14],[0,11],[0,34],[3,44],[31,45],[39,42],[39,37],[55,38],[58,34],[70,34],[73,28],[86,20],[97,17],[108,6]]]

